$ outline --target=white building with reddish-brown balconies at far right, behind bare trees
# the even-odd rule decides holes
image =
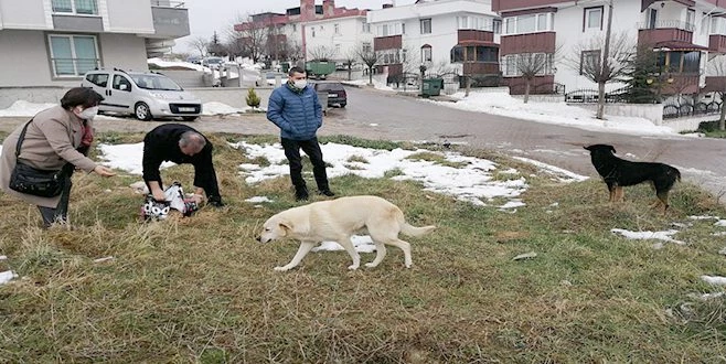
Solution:
[[[723,2],[723,1],[722,1]],[[502,17],[501,67],[513,94],[523,92],[517,57],[541,53],[551,61],[535,89],[597,88],[583,73],[590,57],[601,57],[610,0],[493,0]],[[662,93],[694,94],[706,84],[709,58],[726,52],[726,11],[718,0],[613,0],[611,40],[656,52]],[[600,45],[598,45],[600,44]],[[588,47],[589,46],[589,47]],[[574,61],[573,61],[574,60]],[[577,61],[579,60],[579,67]],[[623,84],[607,85],[608,92]]]

